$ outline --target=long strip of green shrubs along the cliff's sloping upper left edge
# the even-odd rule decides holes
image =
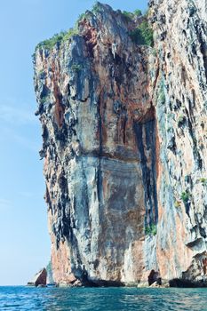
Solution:
[[[70,28],[68,31],[61,31],[60,34],[56,34],[50,39],[44,40],[40,44],[37,44],[36,50],[40,48],[52,50],[55,44],[61,44],[62,42],[66,42],[71,36],[75,36],[77,34],[78,31],[76,28]]]

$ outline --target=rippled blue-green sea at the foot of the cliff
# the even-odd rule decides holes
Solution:
[[[207,289],[0,287],[0,310],[207,310]]]

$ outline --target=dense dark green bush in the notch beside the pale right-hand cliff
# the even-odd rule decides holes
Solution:
[[[139,45],[154,45],[153,41],[153,29],[149,26],[147,20],[142,21],[138,28],[134,29],[130,33],[131,40],[135,44]]]

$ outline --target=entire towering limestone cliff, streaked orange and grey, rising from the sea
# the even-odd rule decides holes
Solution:
[[[154,48],[105,4],[36,48],[56,283],[206,280],[206,12],[149,6]]]

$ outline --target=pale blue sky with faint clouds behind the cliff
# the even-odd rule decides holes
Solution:
[[[107,0],[147,9],[146,0]],[[34,116],[31,55],[36,44],[72,27],[91,0],[3,0],[0,10],[0,285],[25,284],[50,259],[41,131]]]

